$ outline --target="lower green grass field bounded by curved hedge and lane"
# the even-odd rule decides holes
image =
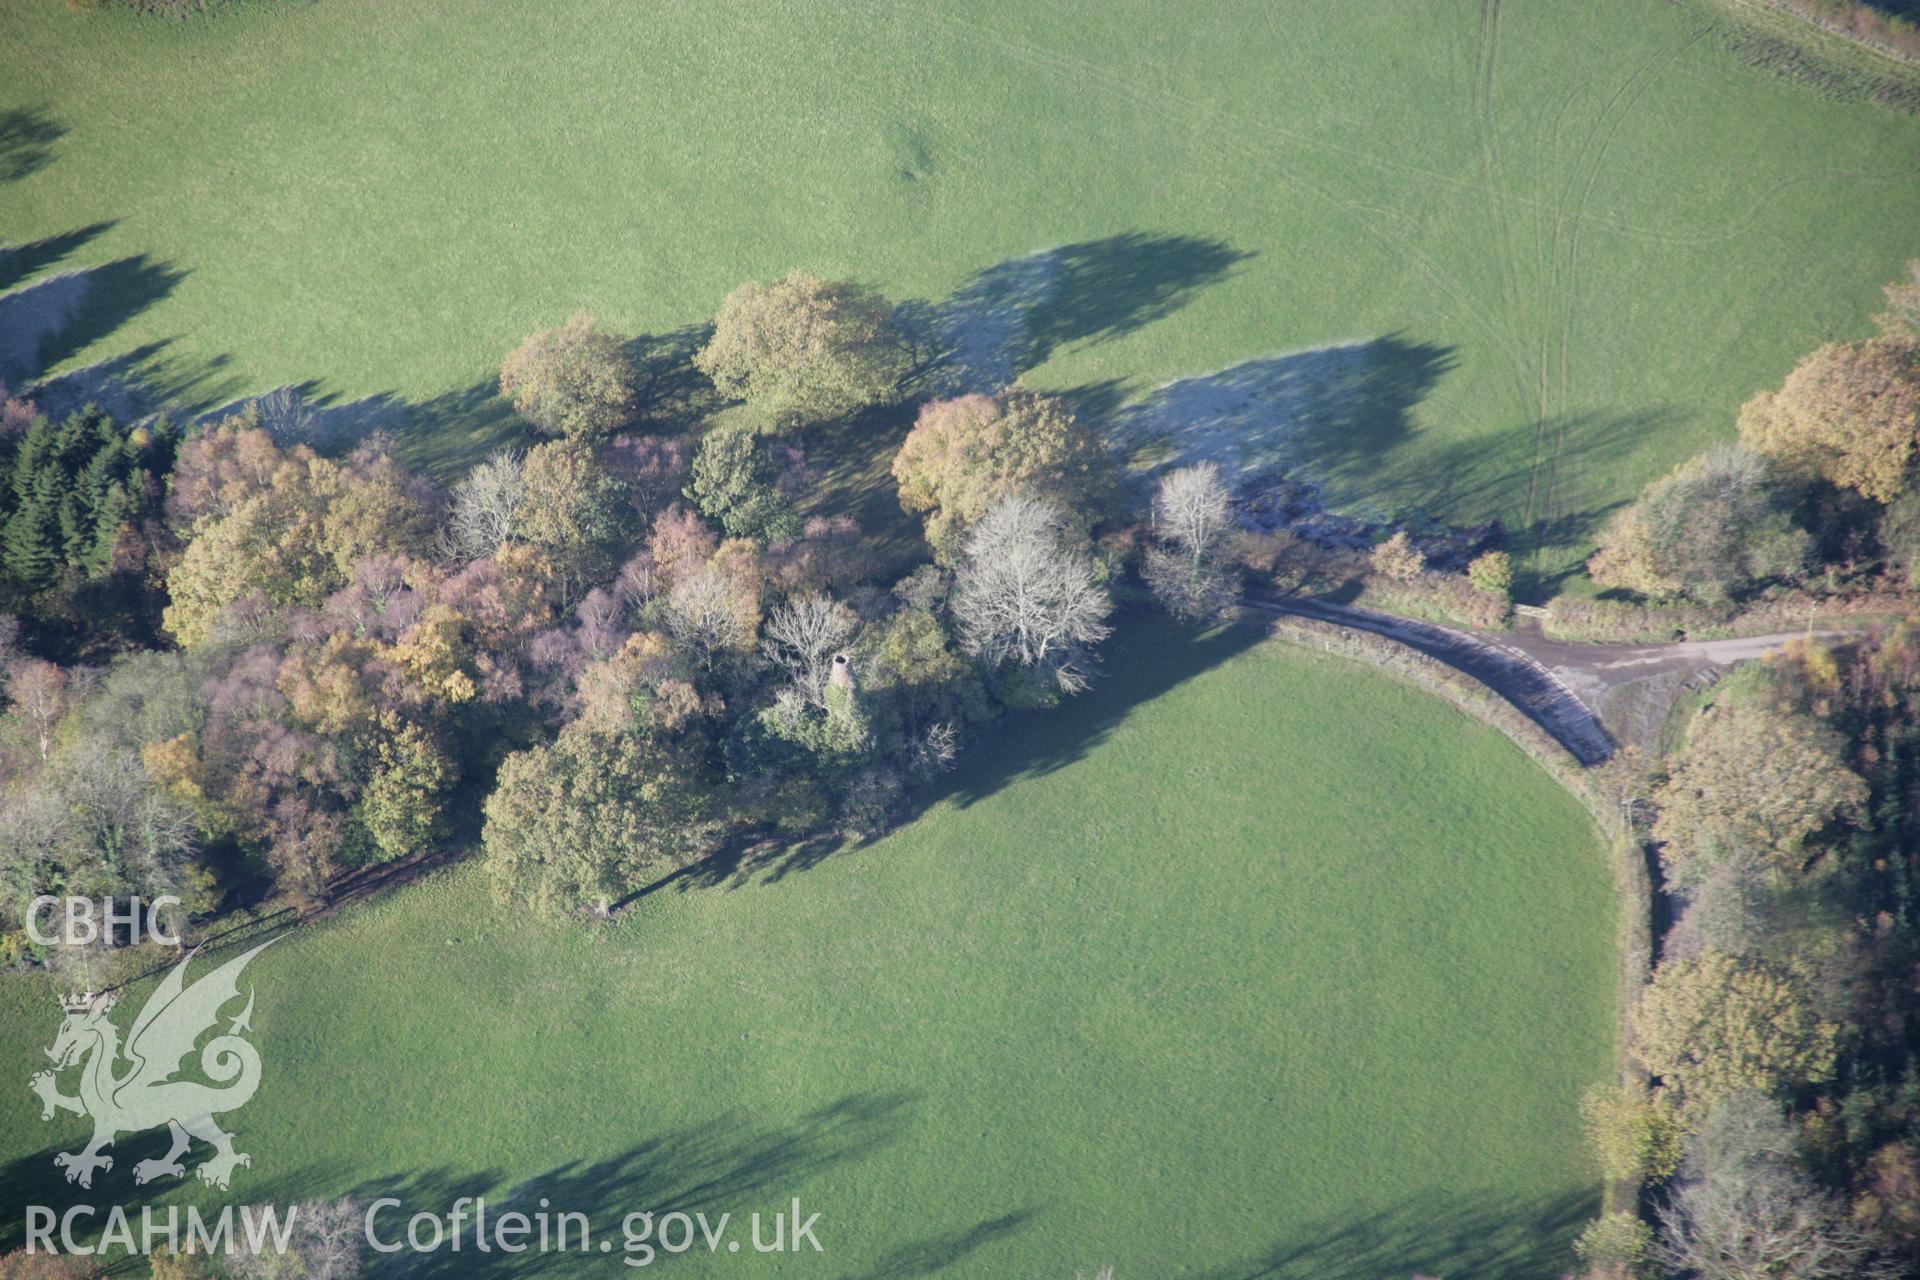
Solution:
[[[269,950],[228,1199],[824,1215],[824,1255],[672,1274],[1561,1274],[1615,1048],[1590,819],[1373,670],[1127,622],[1108,681],[877,844],[609,929],[463,865]],[[75,1196],[48,1159],[83,1134],[21,1088],[58,1021],[0,981],[0,1244]],[[134,1203],[146,1153],[81,1199]],[[538,1272],[436,1257],[411,1274]]]

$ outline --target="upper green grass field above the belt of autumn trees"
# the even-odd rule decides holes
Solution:
[[[1050,249],[1008,372],[1089,405],[1198,380],[1162,424],[1263,436],[1363,509],[1500,516],[1538,595],[1920,251],[1920,119],[1749,69],[1728,21],[10,0],[0,284],[96,274],[0,332],[202,407],[301,384],[445,472],[511,432],[501,353],[576,307],[660,334],[795,265],[993,301]]]

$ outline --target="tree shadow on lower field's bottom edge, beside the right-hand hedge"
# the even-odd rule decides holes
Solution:
[[[1572,1236],[1597,1211],[1597,1194],[1428,1196],[1292,1234],[1206,1280],[1548,1280],[1572,1270]]]

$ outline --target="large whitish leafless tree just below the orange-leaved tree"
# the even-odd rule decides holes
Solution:
[[[1044,670],[1062,693],[1085,689],[1083,660],[1112,633],[1114,603],[1089,557],[1068,545],[1060,510],[1014,493],[981,516],[966,547],[952,601],[962,649],[993,666]]]

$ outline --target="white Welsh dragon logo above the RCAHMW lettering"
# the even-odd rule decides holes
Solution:
[[[273,942],[278,938],[228,960],[192,986],[184,983],[186,961],[194,956],[182,960],[148,996],[140,1017],[132,1019],[125,1050],[119,1044],[119,1031],[108,1021],[117,1004],[115,996],[61,1000],[67,1021],[61,1023],[54,1048],[46,1050],[54,1059],[54,1071],[35,1075],[29,1086],[44,1103],[42,1121],[54,1119],[54,1111],[94,1117],[92,1142],[81,1151],[61,1151],[54,1157],[54,1165],[67,1171],[67,1182],[92,1186],[94,1169],[113,1167],[113,1157],[102,1155],[100,1148],[109,1146],[115,1134],[161,1125],[173,1132],[173,1148],[161,1159],[134,1165],[134,1182],[186,1173],[180,1155],[194,1138],[213,1146],[213,1155],[198,1169],[202,1182],[227,1190],[234,1167],[253,1163],[250,1155],[234,1151],[234,1136],[213,1123],[215,1111],[238,1109],[259,1088],[259,1054],[240,1038],[240,1032],[252,1031],[248,1021],[253,1017],[252,988],[246,1007],[228,1023],[227,1032],[213,1036],[200,1050],[200,1071],[217,1086],[173,1077],[194,1052],[200,1034],[219,1021],[221,1007],[240,996],[240,971]],[[121,1057],[132,1065],[125,1075],[115,1075]],[[67,1098],[54,1075],[77,1063],[79,1098]]]

